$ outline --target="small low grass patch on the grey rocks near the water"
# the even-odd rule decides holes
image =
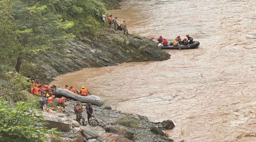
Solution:
[[[116,120],[116,123],[123,125],[125,127],[131,127],[131,128],[139,128],[139,120],[136,120],[134,118],[118,118]]]

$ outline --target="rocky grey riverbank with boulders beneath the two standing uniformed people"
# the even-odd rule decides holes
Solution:
[[[70,100],[66,102],[63,112],[43,113],[49,123],[48,127],[61,130],[60,138],[51,138],[51,141],[173,141],[164,134],[164,130],[175,127],[171,120],[150,122],[147,117],[138,114],[122,113],[108,106],[93,106],[93,114],[98,123],[92,126],[86,119],[86,126],[83,126],[76,122],[75,104]],[[85,105],[82,104],[83,107]],[[83,111],[83,116],[87,118],[86,111]]]

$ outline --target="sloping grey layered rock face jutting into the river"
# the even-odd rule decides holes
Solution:
[[[123,35],[122,31],[112,29],[106,29],[100,36],[84,36],[67,44],[67,47],[49,49],[26,58],[22,70],[33,71],[42,81],[49,82],[57,75],[82,68],[106,67],[132,61],[163,61],[170,58],[170,54],[159,49],[149,38]]]

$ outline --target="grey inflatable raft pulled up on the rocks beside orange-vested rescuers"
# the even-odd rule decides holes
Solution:
[[[57,88],[55,91],[52,92],[52,94],[54,94],[55,97],[58,97],[58,98],[66,97],[67,99],[77,100],[79,102],[85,102],[85,103],[90,102],[96,106],[102,106],[103,104],[103,100],[100,99],[100,97],[98,96],[95,96],[95,95],[81,96],[70,90],[63,89],[63,88]]]

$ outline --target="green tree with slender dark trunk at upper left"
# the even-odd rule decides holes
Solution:
[[[3,0],[3,8],[9,8],[8,17],[15,24],[14,31],[19,45],[15,47],[17,62],[15,70],[20,71],[22,58],[28,52],[44,51],[45,47],[63,45],[65,41],[74,38],[65,31],[72,28],[73,22],[63,20],[40,0],[19,1]],[[2,11],[2,10],[1,10]]]

